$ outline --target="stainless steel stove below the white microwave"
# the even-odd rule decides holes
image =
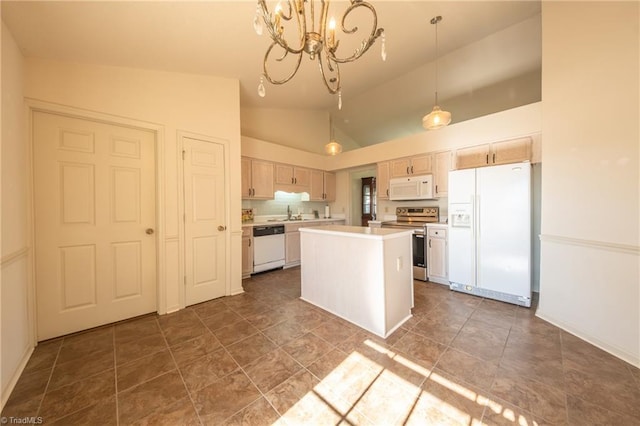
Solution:
[[[413,278],[427,281],[427,224],[438,222],[438,207],[397,207],[396,220],[382,222],[383,228],[413,229]]]

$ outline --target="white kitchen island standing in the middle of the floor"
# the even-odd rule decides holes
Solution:
[[[411,318],[411,230],[300,229],[301,298],[386,338]]]

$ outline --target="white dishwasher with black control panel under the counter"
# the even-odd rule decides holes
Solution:
[[[284,225],[253,227],[253,272],[284,266]]]

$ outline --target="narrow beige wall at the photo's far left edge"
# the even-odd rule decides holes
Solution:
[[[33,349],[30,318],[29,174],[23,58],[2,24],[2,405]]]

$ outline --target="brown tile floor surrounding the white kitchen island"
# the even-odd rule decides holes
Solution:
[[[386,340],[302,302],[300,270],[246,293],[43,342],[3,416],[51,425],[640,424],[637,368],[534,310],[415,282]]]

